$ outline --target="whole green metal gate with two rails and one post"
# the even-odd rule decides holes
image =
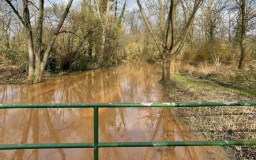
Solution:
[[[99,158],[99,148],[104,147],[173,147],[173,146],[218,146],[218,145],[256,145],[256,140],[248,141],[141,141],[141,142],[99,142],[99,108],[180,108],[213,106],[256,106],[252,102],[184,102],[184,103],[73,103],[73,104],[0,104],[0,109],[13,108],[93,108],[93,143],[39,143],[39,144],[2,144],[0,150],[40,149],[40,148],[94,148],[94,159]]]

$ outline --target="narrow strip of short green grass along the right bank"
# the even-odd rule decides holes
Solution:
[[[220,84],[205,80],[205,79],[196,79],[193,77],[186,77],[186,76],[172,76],[170,77],[171,80],[176,80],[178,82],[182,82],[183,84],[186,84],[187,86],[202,86],[204,88],[210,88],[210,89],[217,89],[217,90],[235,90],[238,93],[242,93],[244,95],[256,95],[256,88],[250,88],[248,86],[220,86]]]

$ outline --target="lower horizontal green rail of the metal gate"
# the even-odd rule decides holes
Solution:
[[[102,142],[97,148],[106,147],[174,147],[174,146],[231,146],[256,145],[251,141],[136,141],[136,142]],[[0,150],[40,149],[40,148],[95,148],[93,143],[39,143],[0,145]],[[98,153],[98,152],[97,152]],[[95,154],[94,154],[95,155]],[[98,154],[97,154],[98,156]],[[97,157],[95,156],[95,157]],[[98,158],[98,157],[97,157]]]

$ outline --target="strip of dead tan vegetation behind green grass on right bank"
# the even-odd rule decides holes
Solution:
[[[206,79],[220,86],[241,90],[243,93],[256,95],[256,63],[247,63],[244,70],[239,70],[236,65],[209,65],[200,63],[198,65],[174,62],[172,72],[176,75]]]

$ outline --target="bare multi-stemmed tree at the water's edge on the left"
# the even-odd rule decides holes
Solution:
[[[29,12],[29,3],[31,2],[28,0],[22,0],[22,4],[23,4],[23,18],[22,18],[17,8],[15,8],[15,6],[12,4],[12,2],[10,0],[5,0],[5,1],[10,5],[13,12],[17,15],[20,22],[23,24],[24,28],[26,29],[26,35],[28,40],[28,53],[29,53],[28,81],[33,83],[40,83],[42,81],[42,75],[43,75],[47,60],[49,58],[49,54],[51,54],[52,46],[59,34],[59,31],[61,29],[61,26],[63,25],[64,20],[67,17],[67,14],[70,10],[73,0],[68,1],[65,11],[61,16],[61,20],[58,23],[57,27],[54,29],[52,38],[50,42],[47,44],[45,51],[42,47],[42,38],[43,38],[42,33],[43,33],[43,23],[44,23],[44,0],[39,1],[39,8],[38,8],[39,16],[38,16],[37,25],[36,25],[37,28],[36,28],[35,46],[34,46],[31,21],[30,21],[31,15]],[[44,52],[43,58],[41,58],[42,52]]]

